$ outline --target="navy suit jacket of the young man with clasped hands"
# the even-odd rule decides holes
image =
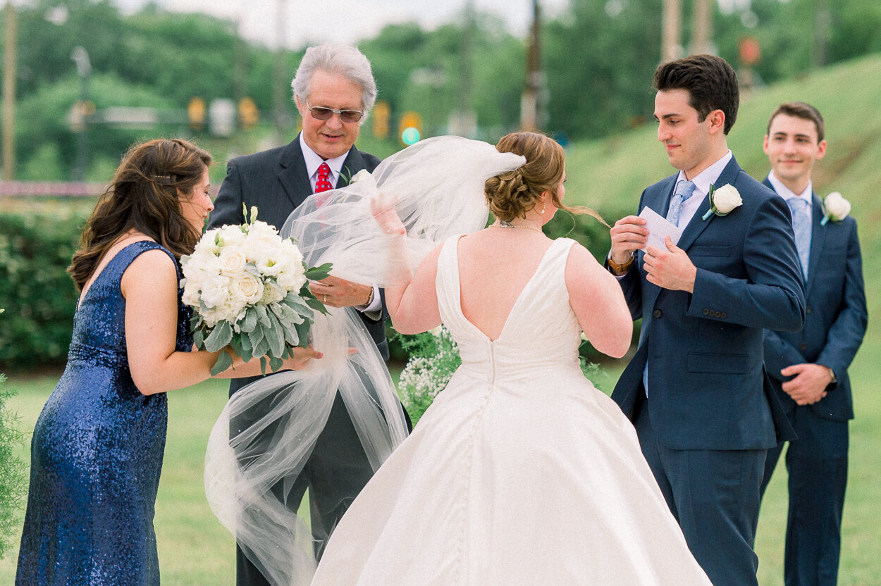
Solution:
[[[765,184],[772,187],[765,179]],[[773,187],[772,187],[773,188]],[[813,195],[811,260],[804,284],[804,328],[798,332],[765,332],[765,368],[788,413],[796,401],[783,391],[781,369],[792,364],[816,363],[831,368],[837,383],[826,396],[809,406],[814,414],[833,421],[854,418],[848,367],[862,344],[869,319],[862,284],[862,256],[852,216],[841,222],[823,219],[823,206]]]

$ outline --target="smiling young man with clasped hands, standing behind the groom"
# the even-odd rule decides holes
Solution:
[[[824,134],[815,107],[788,102],[771,114],[764,145],[771,162],[765,184],[793,210],[805,289],[803,330],[765,332],[766,370],[798,436],[786,451],[786,586],[838,582],[848,420],[854,417],[848,366],[867,321],[856,222],[851,216],[824,222],[811,184],[814,163],[825,155]],[[782,449],[783,443],[768,450],[762,494]]]

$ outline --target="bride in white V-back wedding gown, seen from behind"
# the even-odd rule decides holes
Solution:
[[[444,323],[463,364],[345,514],[312,583],[708,586],[633,426],[581,374],[582,331],[619,357],[633,326],[614,277],[541,231],[564,207],[563,151],[532,133],[497,148],[526,164],[486,181],[496,223],[386,285],[396,330]],[[403,255],[395,208],[374,216]]]

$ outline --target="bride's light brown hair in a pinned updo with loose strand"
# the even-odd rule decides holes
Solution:
[[[526,157],[526,164],[514,171],[507,171],[486,179],[484,194],[493,216],[504,222],[515,217],[526,217],[535,209],[542,193],[552,194],[554,206],[574,214],[589,214],[597,220],[609,224],[593,209],[576,206],[567,207],[559,200],[558,187],[565,171],[563,147],[550,136],[537,132],[514,132],[502,136],[496,144],[499,152],[513,152]]]

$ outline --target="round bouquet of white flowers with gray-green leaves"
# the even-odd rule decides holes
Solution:
[[[326,277],[330,264],[306,267],[292,238],[256,217],[251,208],[250,222],[205,232],[193,253],[181,257],[181,289],[183,303],[194,308],[196,348],[217,352],[228,345],[245,362],[260,356],[265,374],[267,357],[278,370],[292,348],[307,346],[314,311],[326,311],[307,280]],[[221,352],[211,376],[232,363]]]

